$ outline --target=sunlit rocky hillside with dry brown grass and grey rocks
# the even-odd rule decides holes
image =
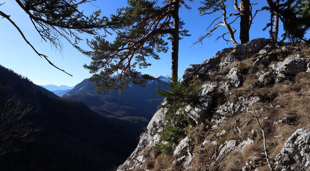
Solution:
[[[153,148],[166,124],[160,108],[118,170],[310,170],[310,48],[256,38],[184,72],[202,85],[188,106],[186,137],[171,155]],[[163,101],[162,103],[167,103]],[[266,153],[264,152],[264,129]]]

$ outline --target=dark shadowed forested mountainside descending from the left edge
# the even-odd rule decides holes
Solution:
[[[11,102],[21,101],[24,107],[29,104],[34,112],[14,123],[0,124],[0,130],[10,130],[21,121],[42,129],[29,135],[35,139],[33,142],[23,142],[12,135],[11,146],[21,150],[0,155],[0,170],[108,170],[126,160],[148,124],[144,117],[108,116],[114,115],[108,113],[116,110],[112,108],[107,113],[93,112],[81,101],[57,97],[1,65],[0,73],[0,113],[11,98]],[[117,102],[116,98],[111,99]],[[123,107],[122,102],[117,104]],[[3,141],[8,140],[0,131],[1,147]]]

